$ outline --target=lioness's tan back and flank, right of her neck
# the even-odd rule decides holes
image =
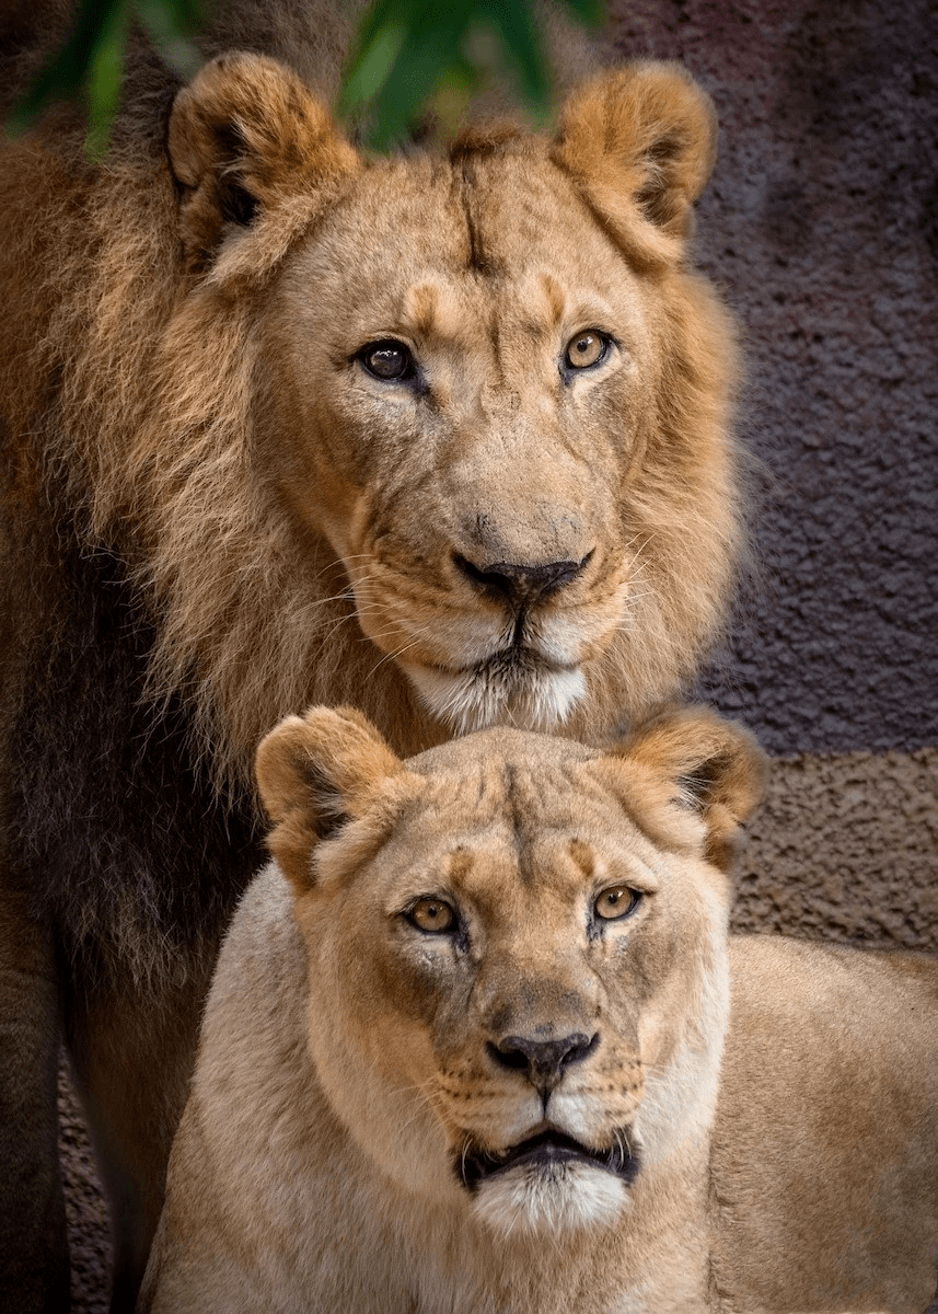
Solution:
[[[786,1307],[842,1310],[838,1293],[863,1289],[862,1309],[897,1311],[908,1286],[880,1275],[905,1252],[927,1301],[938,962],[741,936],[730,979],[712,1151],[717,1275],[732,1269],[737,1298],[758,1302],[749,1309],[782,1307],[784,1294],[804,1302]]]

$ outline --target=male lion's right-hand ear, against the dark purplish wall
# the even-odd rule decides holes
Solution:
[[[631,64],[573,92],[552,158],[627,255],[673,261],[713,168],[716,110],[679,64]]]

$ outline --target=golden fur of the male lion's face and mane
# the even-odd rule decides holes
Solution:
[[[608,158],[587,150],[611,133]],[[13,284],[0,388],[24,461],[54,463],[87,540],[138,573],[152,691],[185,691],[213,769],[247,771],[310,696],[355,695],[418,746],[507,715],[582,729],[673,694],[738,552],[733,334],[683,261],[713,154],[694,84],[636,66],[573,96],[553,141],[364,160],[282,66],[225,57],[177,97],[168,151],[172,173],[138,141],[95,172],[7,146],[5,259],[42,279]],[[247,227],[225,219],[235,184]],[[616,359],[564,393],[554,360],[594,326]],[[349,357],[382,336],[419,344],[432,406],[363,382]],[[594,553],[531,635],[532,668],[540,643],[582,690],[541,698],[507,671],[501,692],[483,671],[462,708],[448,671],[501,650],[506,622],[453,552]]]

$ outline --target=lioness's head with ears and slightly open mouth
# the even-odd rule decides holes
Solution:
[[[352,710],[261,744],[339,1118],[503,1233],[610,1222],[712,1116],[724,867],[761,758],[705,712],[621,749],[487,731],[402,762]]]

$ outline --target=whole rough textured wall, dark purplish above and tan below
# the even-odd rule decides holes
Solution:
[[[723,124],[699,254],[745,331],[762,574],[707,683],[779,758],[736,922],[938,950],[938,11],[612,0],[611,22]],[[105,1210],[66,1109],[97,1314]]]

